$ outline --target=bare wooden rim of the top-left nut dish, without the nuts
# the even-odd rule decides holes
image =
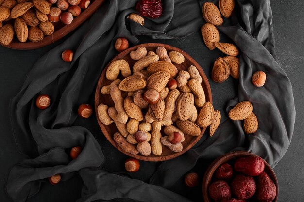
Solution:
[[[104,2],[104,0],[94,0],[86,9],[82,9],[82,13],[75,17],[71,24],[64,25],[61,22],[54,23],[55,31],[49,36],[45,36],[39,42],[19,42],[17,40],[16,34],[13,41],[5,46],[12,49],[18,50],[32,50],[40,47],[47,46],[49,44],[54,43],[55,41],[61,39],[66,36],[69,32],[75,30],[79,25],[81,25],[87,18],[89,18]],[[2,45],[4,46],[4,45]]]

